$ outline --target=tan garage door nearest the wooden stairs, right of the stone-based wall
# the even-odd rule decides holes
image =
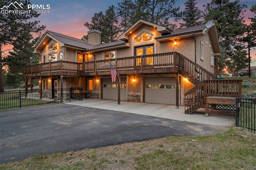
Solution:
[[[176,105],[176,77],[145,78],[145,102]]]

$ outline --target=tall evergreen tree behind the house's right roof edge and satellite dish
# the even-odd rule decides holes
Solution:
[[[221,56],[218,57],[220,74],[223,70],[223,62],[230,68],[230,59],[233,57],[233,51],[240,49],[237,40],[244,34],[243,27],[246,4],[240,4],[239,0],[230,2],[230,0],[212,0],[212,2],[206,5],[204,11],[205,21],[214,21],[217,34],[220,42]],[[237,47],[236,47],[237,46]],[[241,61],[244,61],[246,55],[240,56]],[[235,64],[235,63],[234,63]],[[236,65],[233,65],[236,67]],[[231,70],[230,70],[231,72]]]

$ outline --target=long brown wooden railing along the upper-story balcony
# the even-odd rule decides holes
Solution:
[[[141,55],[132,57],[123,57],[109,60],[89,61],[84,63],[75,63],[70,61],[53,61],[36,65],[27,65],[24,67],[26,73],[40,73],[50,71],[75,71],[90,72],[110,70],[109,62],[115,69],[144,69],[152,67],[173,66],[175,62],[175,52],[159,53],[152,55]]]

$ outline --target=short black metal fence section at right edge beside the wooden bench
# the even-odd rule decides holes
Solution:
[[[256,131],[255,110],[256,99],[236,98],[236,126],[247,128],[249,131]]]

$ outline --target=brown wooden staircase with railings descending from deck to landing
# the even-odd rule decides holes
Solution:
[[[242,80],[218,79],[200,65],[177,53],[177,72],[192,82],[195,87],[184,94],[185,114],[204,107],[206,97],[241,97]]]

